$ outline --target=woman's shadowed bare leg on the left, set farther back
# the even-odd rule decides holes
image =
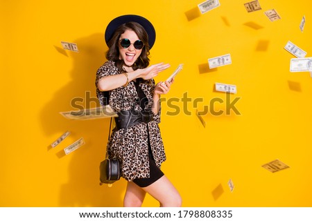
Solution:
[[[123,206],[125,207],[139,207],[142,205],[145,198],[146,191],[137,186],[134,182],[128,182],[125,191],[125,198],[123,199]]]

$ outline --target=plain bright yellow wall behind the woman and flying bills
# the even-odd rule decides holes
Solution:
[[[105,27],[125,14],[149,19],[157,31],[150,63],[184,69],[164,98],[177,97],[179,115],[162,103],[159,124],[167,161],[164,173],[175,184],[183,206],[312,206],[310,73],[290,73],[287,41],[311,57],[312,8],[308,0],[261,0],[248,13],[246,0],[220,0],[203,15],[202,1],[4,1],[1,0],[1,154],[0,206],[122,206],[125,180],[98,185],[105,157],[109,119],[71,121],[71,99],[96,97],[96,70],[105,62]],[[281,20],[264,12],[274,8]],[[300,22],[306,16],[304,32]],[[60,41],[80,52],[65,51]],[[209,70],[207,59],[230,53],[232,64]],[[241,115],[205,115],[182,96],[202,97],[198,108],[216,97],[216,82],[235,84],[231,100]],[[83,104],[86,106],[87,104]],[[92,107],[96,102],[92,102]],[[215,111],[225,110],[225,103]],[[71,135],[49,147],[65,131]],[[63,149],[80,137],[86,144],[69,155]],[[289,169],[271,173],[261,165],[279,159]],[[232,179],[234,191],[227,182]],[[150,196],[143,206],[158,206]]]

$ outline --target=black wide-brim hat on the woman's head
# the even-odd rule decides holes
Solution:
[[[116,17],[110,23],[108,24],[106,30],[105,30],[105,41],[108,46],[108,42],[110,39],[112,39],[112,36],[114,35],[115,30],[121,26],[123,23],[128,23],[130,21],[135,21],[139,23],[143,28],[146,30],[148,34],[148,45],[150,48],[153,47],[156,39],[156,32],[155,28],[148,19],[141,17],[139,15],[122,15],[120,17]]]

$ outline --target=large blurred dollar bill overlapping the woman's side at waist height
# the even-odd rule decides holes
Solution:
[[[67,119],[98,119],[107,117],[118,117],[109,105],[97,108],[82,109],[79,111],[60,112]]]

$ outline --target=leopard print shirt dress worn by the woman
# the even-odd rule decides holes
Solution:
[[[103,66],[98,68],[96,72],[96,95],[101,105],[107,104],[105,92],[98,90],[98,80],[109,75],[119,75],[119,70],[116,68],[114,61],[106,61]],[[153,106],[153,91],[155,81],[151,84],[140,83],[139,86],[144,91],[148,99],[146,108]],[[128,111],[135,105],[135,110],[141,111],[138,104],[138,95],[133,81],[130,81],[127,86],[121,86],[109,91],[108,104],[112,109],[119,113],[120,111]],[[154,120],[145,123],[136,124],[125,129],[112,130],[110,140],[107,142],[107,153],[110,157],[114,155],[121,161],[121,176],[125,180],[131,181],[135,178],[150,177],[150,169],[148,162],[148,139],[152,149],[155,164],[160,168],[162,162],[166,160],[164,144],[160,135],[160,108],[157,115],[154,115]],[[149,137],[148,137],[149,136]],[[123,139],[121,139],[123,137]],[[120,145],[121,144],[121,145]]]

